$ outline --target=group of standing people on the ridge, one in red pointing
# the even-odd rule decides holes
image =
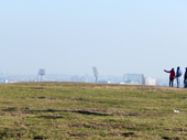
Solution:
[[[174,68],[172,68],[170,71],[166,71],[164,69],[164,72],[166,73],[170,73],[169,75],[169,87],[174,86],[174,79],[176,78],[177,80],[177,87],[180,87],[180,76],[182,76],[182,71],[180,67],[177,67],[177,72],[175,73]],[[186,67],[186,72],[184,74],[184,87],[187,87],[187,67]]]

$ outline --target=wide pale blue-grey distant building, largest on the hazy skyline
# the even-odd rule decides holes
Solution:
[[[143,74],[124,74],[123,80],[127,84],[145,85],[145,78]]]

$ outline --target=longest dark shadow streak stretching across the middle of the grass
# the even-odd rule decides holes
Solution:
[[[95,112],[95,111],[87,111],[87,110],[54,110],[54,109],[47,109],[47,110],[24,110],[28,114],[37,114],[37,112],[76,112],[76,114],[82,114],[82,115],[94,115],[94,116],[113,116],[112,114],[101,114],[101,112]]]

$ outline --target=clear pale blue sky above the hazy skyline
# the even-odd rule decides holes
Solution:
[[[168,77],[186,56],[186,0],[0,0],[4,74]]]

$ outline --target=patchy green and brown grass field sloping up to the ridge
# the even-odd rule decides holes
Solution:
[[[187,139],[187,89],[82,83],[0,85],[0,139]]]

